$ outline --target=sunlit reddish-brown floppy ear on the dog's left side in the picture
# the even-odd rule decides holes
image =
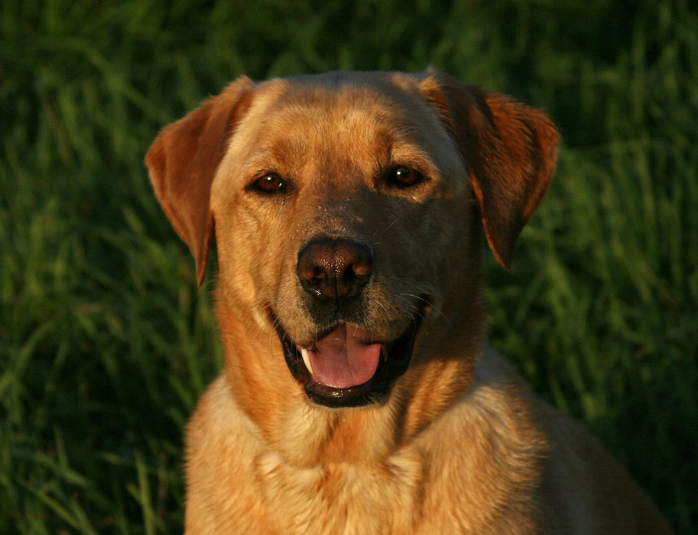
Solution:
[[[218,96],[166,126],[145,156],[155,195],[204,280],[214,220],[209,209],[211,182],[235,124],[251,102],[253,82],[246,76]]]

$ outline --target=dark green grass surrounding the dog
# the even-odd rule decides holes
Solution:
[[[156,204],[159,128],[232,77],[422,70],[563,133],[491,343],[698,529],[698,12],[688,0],[3,0],[0,533],[180,532],[221,364],[211,277]]]

